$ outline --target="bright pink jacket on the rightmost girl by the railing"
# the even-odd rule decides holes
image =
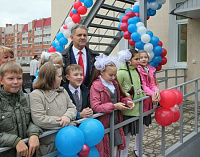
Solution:
[[[151,65],[148,65],[149,67],[149,75],[151,78],[151,81],[149,82],[148,75],[146,71],[143,69],[142,66],[138,66],[137,69],[140,73],[141,76],[141,81],[142,81],[142,88],[144,92],[146,93],[147,96],[152,96],[156,90],[158,90],[158,86],[155,85],[155,78],[154,78],[154,73],[156,69],[152,67]],[[143,105],[143,111],[146,112],[149,109],[152,109],[152,99],[148,98],[144,100],[144,105]]]

